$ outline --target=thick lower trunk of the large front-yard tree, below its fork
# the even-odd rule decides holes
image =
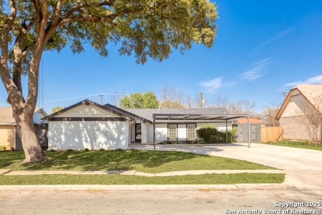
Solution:
[[[49,160],[45,156],[36,135],[33,113],[27,113],[27,111],[22,111],[21,114],[18,113],[14,111],[14,118],[17,122],[18,135],[26,155],[25,163],[37,163]]]

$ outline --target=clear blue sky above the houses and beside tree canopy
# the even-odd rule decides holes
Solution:
[[[322,83],[322,1],[216,1],[220,19],[215,45],[174,50],[163,62],[135,63],[109,46],[108,58],[91,47],[73,55],[68,47],[45,52],[40,69],[38,106],[67,107],[89,98],[109,102],[116,92],[159,93],[164,83],[211,100],[248,99],[261,112],[281,103],[283,91],[298,83]],[[24,81],[26,85],[26,80]],[[26,89],[26,87],[24,87]],[[26,90],[25,90],[26,91]],[[8,106],[0,84],[0,106]]]

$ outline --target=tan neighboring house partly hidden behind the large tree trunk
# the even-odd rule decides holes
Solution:
[[[42,118],[48,114],[42,109],[35,110],[34,124],[38,139],[44,148],[47,147],[47,123]],[[21,140],[16,130],[16,121],[13,118],[12,107],[0,107],[0,146],[8,149],[23,151]]]

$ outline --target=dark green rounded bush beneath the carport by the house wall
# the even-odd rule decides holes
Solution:
[[[228,131],[228,143],[236,142],[237,130]],[[226,131],[220,131],[215,126],[204,126],[197,129],[197,135],[205,143],[226,143]]]

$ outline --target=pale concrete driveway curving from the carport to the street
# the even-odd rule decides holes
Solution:
[[[157,145],[160,151],[181,151],[247,160],[283,169],[285,183],[296,187],[322,188],[322,151],[266,144]],[[153,150],[153,145],[136,145],[133,149]]]

